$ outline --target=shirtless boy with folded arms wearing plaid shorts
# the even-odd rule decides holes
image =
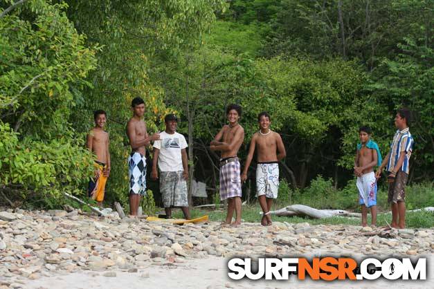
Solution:
[[[212,151],[221,151],[220,159],[220,199],[228,200],[228,214],[224,225],[230,225],[233,212],[236,218],[233,226],[241,224],[241,179],[239,176],[241,167],[237,153],[244,140],[244,129],[239,125],[241,106],[230,104],[226,108],[226,116],[229,124],[221,128],[214,140],[210,142]]]

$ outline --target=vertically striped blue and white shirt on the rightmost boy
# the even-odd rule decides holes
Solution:
[[[386,167],[387,171],[392,171],[397,165],[401,153],[405,153],[404,162],[402,162],[401,170],[408,174],[410,171],[409,161],[413,150],[413,137],[411,136],[408,127],[402,131],[397,131],[393,137],[393,142],[390,145],[390,158]]]

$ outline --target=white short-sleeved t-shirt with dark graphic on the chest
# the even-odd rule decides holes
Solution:
[[[186,138],[181,133],[169,134],[163,131],[160,139],[154,142],[154,148],[160,150],[160,171],[183,171],[181,149],[187,147]]]

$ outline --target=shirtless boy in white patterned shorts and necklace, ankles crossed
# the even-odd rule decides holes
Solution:
[[[261,225],[265,226],[271,225],[269,212],[273,198],[278,197],[279,161],[287,153],[280,134],[270,129],[271,118],[269,113],[263,111],[257,115],[257,122],[259,122],[260,131],[253,134],[241,180],[245,182],[247,179],[248,167],[251,164],[253,153],[257,147],[256,192],[262,212],[264,212]]]

